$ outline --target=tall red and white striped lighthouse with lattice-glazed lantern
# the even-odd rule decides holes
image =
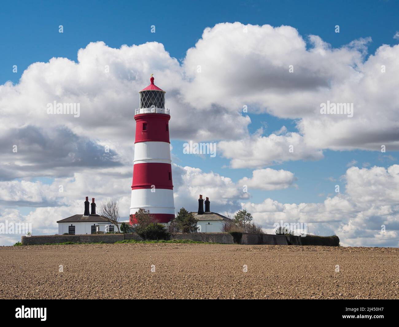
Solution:
[[[165,91],[154,84],[142,89],[140,105],[134,111],[136,138],[130,223],[140,209],[149,210],[160,223],[168,223],[175,216],[170,160],[169,109],[165,108]]]

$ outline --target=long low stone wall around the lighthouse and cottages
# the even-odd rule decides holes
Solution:
[[[237,235],[238,234],[238,235]],[[257,245],[322,245],[339,246],[338,236],[314,236],[306,237],[294,235],[274,235],[274,234],[253,234],[236,233],[233,237],[229,233],[174,233],[174,240],[193,240],[223,244],[234,244],[234,240],[239,244]],[[123,240],[142,240],[137,234],[93,234],[93,235],[51,235],[51,236],[22,236],[23,245],[39,245],[46,243],[81,242],[81,243],[115,243]]]

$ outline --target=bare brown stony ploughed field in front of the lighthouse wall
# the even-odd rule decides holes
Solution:
[[[398,276],[398,248],[0,247],[2,299],[397,299]]]

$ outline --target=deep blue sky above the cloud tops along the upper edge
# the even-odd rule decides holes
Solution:
[[[203,29],[220,22],[294,26],[302,36],[319,35],[334,48],[370,36],[373,53],[395,43],[397,1],[5,1],[0,12],[0,83],[18,82],[33,62],[77,59],[89,42],[122,44],[157,41],[172,57],[184,58]],[[155,24],[156,33],[150,32]],[[340,25],[340,34],[334,26]],[[64,26],[59,38],[58,26]],[[18,64],[18,73],[12,66]]]

